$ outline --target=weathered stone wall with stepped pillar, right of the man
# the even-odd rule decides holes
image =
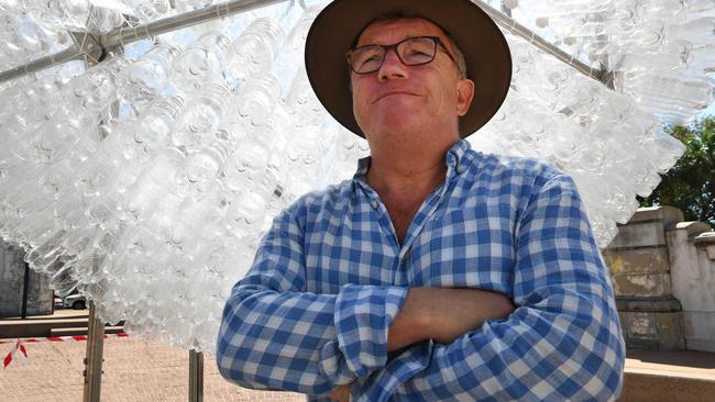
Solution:
[[[603,250],[629,348],[715,351],[715,233],[644,208]]]

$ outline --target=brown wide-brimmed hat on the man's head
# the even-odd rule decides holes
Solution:
[[[497,112],[512,81],[512,54],[494,21],[470,0],[336,0],[318,14],[306,41],[306,69],[328,112],[364,137],[352,108],[350,68],[345,53],[362,31],[382,15],[424,16],[451,35],[464,54],[474,99],[460,118],[462,138]]]

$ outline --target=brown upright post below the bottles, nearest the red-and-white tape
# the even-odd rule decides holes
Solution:
[[[95,302],[89,301],[89,328],[87,336],[87,357],[85,357],[84,402],[99,402],[102,384],[102,362],[105,354],[105,323],[96,315]]]

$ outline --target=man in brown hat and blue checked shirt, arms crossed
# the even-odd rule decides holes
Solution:
[[[488,16],[338,0],[306,66],[371,157],[276,217],[227,302],[220,372],[316,401],[617,398],[623,338],[573,181],[462,139],[509,86]]]

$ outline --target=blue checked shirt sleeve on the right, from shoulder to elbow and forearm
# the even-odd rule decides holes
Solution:
[[[556,175],[535,190],[516,244],[517,309],[507,319],[449,345],[410,348],[356,381],[353,400],[615,400],[625,347],[608,272],[571,178]]]

